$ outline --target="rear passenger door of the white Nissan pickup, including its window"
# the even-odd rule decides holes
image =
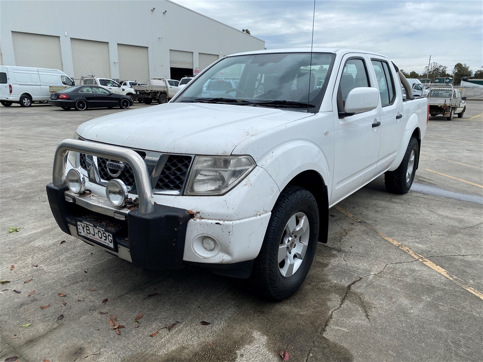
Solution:
[[[376,174],[385,171],[396,157],[404,131],[404,109],[402,99],[397,97],[396,84],[399,81],[394,74],[392,64],[385,59],[371,58],[371,67],[376,76],[381,104],[380,134],[381,143],[376,167]]]

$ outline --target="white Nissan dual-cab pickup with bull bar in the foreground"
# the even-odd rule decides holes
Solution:
[[[220,72],[237,87],[202,97]],[[382,174],[408,192],[427,122],[426,99],[383,55],[235,54],[169,103],[79,126],[47,193],[61,229],[90,245],[147,269],[248,278],[280,300],[327,242],[330,207]]]

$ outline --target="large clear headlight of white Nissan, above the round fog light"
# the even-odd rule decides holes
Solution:
[[[223,195],[255,167],[250,156],[196,156],[185,195]]]

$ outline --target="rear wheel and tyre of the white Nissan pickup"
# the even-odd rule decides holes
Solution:
[[[413,185],[416,165],[419,160],[419,144],[414,137],[406,148],[406,153],[397,169],[384,174],[384,184],[390,193],[405,194]]]

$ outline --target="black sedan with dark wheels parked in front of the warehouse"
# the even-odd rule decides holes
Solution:
[[[76,108],[113,108],[127,109],[133,105],[131,97],[109,92],[107,89],[95,85],[78,85],[62,89],[60,92],[50,93],[49,103],[62,109]]]

